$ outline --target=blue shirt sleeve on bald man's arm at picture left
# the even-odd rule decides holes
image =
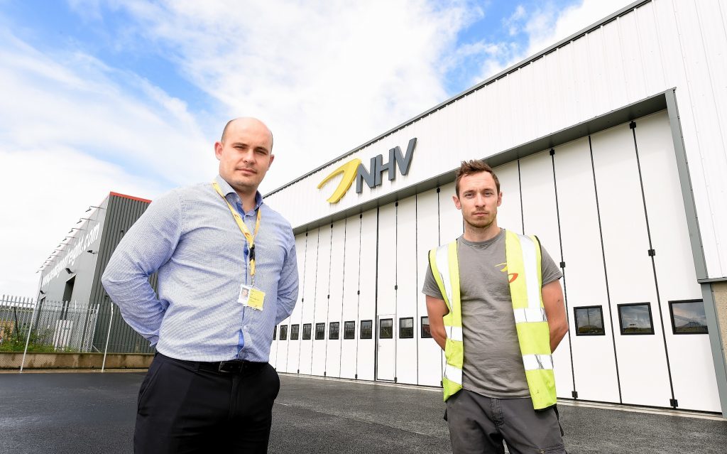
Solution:
[[[126,323],[151,345],[168,303],[158,299],[149,276],[172,257],[183,227],[180,195],[172,191],[156,199],[121,239],[101,278]]]

